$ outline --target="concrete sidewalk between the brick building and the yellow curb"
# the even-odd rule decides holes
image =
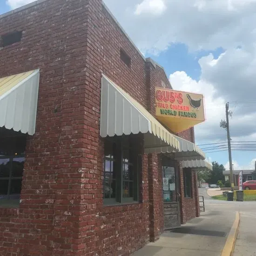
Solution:
[[[158,241],[149,243],[133,256],[220,256],[235,216],[235,212],[206,211],[175,232],[165,231]]]

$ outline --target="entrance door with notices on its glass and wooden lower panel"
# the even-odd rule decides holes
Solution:
[[[162,176],[164,229],[174,229],[181,226],[180,176],[176,162],[164,159],[162,161]]]

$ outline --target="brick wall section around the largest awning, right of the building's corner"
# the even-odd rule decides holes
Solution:
[[[144,107],[147,106],[144,59],[137,52],[131,42],[124,36],[115,20],[102,6],[101,1],[90,1],[91,23],[89,26],[90,45],[96,44],[97,51],[88,52],[88,73],[95,74],[95,80],[88,77],[88,85],[93,91],[101,90],[101,71],[118,86],[127,91]],[[100,19],[101,17],[101,19]],[[95,26],[96,24],[96,26]],[[115,42],[113,44],[113,42]],[[131,57],[131,67],[120,59],[120,49]],[[100,93],[99,93],[100,95]],[[96,106],[100,106],[100,97],[94,99]],[[97,117],[98,124],[99,116]],[[98,126],[99,129],[99,126]],[[99,239],[96,243],[99,255],[128,255],[141,248],[149,241],[149,196],[148,196],[148,156],[143,155],[140,203],[130,206],[106,207],[103,205],[103,147],[104,142],[98,138],[98,171],[99,190],[95,196],[97,203],[97,232]],[[99,209],[99,210],[98,210]]]

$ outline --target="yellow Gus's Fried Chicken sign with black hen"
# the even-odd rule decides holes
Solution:
[[[155,88],[156,117],[173,132],[205,121],[202,94]]]

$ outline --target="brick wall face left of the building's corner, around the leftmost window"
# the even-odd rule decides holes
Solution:
[[[0,34],[23,31],[21,42],[0,49],[0,77],[40,68],[20,209],[0,209],[0,255],[77,255],[90,245],[95,199],[89,188],[97,168],[87,140],[98,137],[98,127],[88,129],[84,121],[91,108],[84,101],[87,4],[49,0],[0,19]]]

